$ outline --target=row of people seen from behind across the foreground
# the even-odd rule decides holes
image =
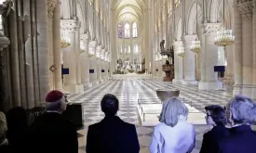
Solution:
[[[61,115],[66,97],[51,91],[46,97],[47,112],[28,125],[24,108],[0,112],[0,153],[78,153],[77,133],[72,121]],[[102,121],[88,126],[87,153],[139,153],[134,124],[116,114],[119,101],[107,94],[101,100]],[[206,122],[212,129],[203,135],[200,153],[256,153],[256,103],[235,96],[225,107],[205,108]],[[191,153],[195,147],[195,127],[187,122],[188,108],[179,97],[169,98],[159,116],[160,123],[150,144],[151,153]],[[227,128],[229,123],[231,127]]]

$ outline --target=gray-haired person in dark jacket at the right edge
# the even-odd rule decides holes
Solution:
[[[255,153],[256,133],[250,125],[256,119],[256,103],[245,96],[235,96],[226,108],[231,123],[230,136],[219,142],[219,153]]]

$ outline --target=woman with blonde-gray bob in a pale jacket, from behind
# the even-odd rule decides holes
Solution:
[[[188,108],[178,97],[163,104],[150,145],[151,153],[190,153],[195,147],[195,128],[186,122]]]

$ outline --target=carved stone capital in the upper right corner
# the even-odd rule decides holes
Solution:
[[[253,5],[254,2],[252,2],[252,0],[239,0],[239,2],[238,6],[242,20],[252,20],[253,9],[255,9]]]

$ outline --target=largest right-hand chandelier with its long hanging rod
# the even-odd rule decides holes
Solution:
[[[235,36],[233,35],[232,30],[227,30],[225,25],[225,1],[223,0],[223,26],[224,29],[217,32],[217,37],[215,38],[215,45],[218,46],[227,46],[233,45],[235,43]]]

